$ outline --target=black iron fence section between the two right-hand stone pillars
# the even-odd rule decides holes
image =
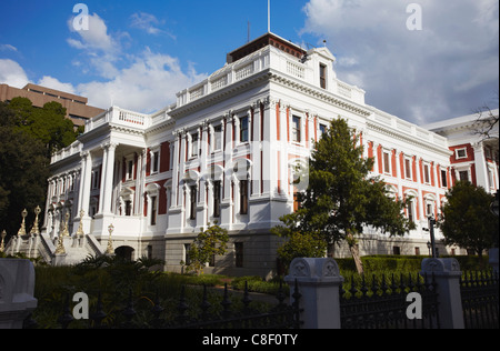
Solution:
[[[411,274],[390,281],[382,275],[371,284],[364,277],[360,283],[351,279],[350,289],[341,290],[340,318],[342,329],[439,329],[438,293],[434,277]],[[410,319],[407,301],[411,292],[421,297],[420,318]],[[419,303],[416,301],[416,303]]]

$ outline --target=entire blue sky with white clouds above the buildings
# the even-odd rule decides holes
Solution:
[[[78,1],[3,0],[0,82],[28,82],[152,112],[267,32],[267,0],[82,1],[89,31],[72,29]],[[407,6],[421,8],[409,31]],[[423,124],[498,108],[497,0],[272,0],[271,30],[302,46],[327,40],[338,77],[367,103]]]

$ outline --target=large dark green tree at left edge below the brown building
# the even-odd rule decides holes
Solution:
[[[59,102],[41,109],[27,98],[0,102],[0,230],[14,234],[23,209],[30,225],[33,209],[46,203],[52,152],[70,146],[77,134]]]

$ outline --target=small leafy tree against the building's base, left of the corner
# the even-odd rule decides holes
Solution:
[[[181,264],[186,265],[188,273],[203,273],[203,269],[216,255],[226,254],[228,241],[229,234],[226,229],[217,224],[210,225],[194,239],[188,251],[188,262],[181,261]]]

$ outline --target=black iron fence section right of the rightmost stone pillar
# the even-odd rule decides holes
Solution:
[[[498,272],[469,272],[460,281],[466,329],[498,329]]]

